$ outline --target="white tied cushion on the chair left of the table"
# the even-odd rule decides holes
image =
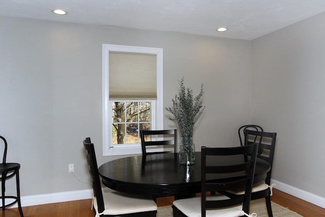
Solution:
[[[157,210],[156,203],[150,197],[129,195],[116,191],[103,191],[105,210],[98,213],[96,198],[93,199],[93,206],[96,216],[100,214],[116,215],[135,212],[146,212]]]

